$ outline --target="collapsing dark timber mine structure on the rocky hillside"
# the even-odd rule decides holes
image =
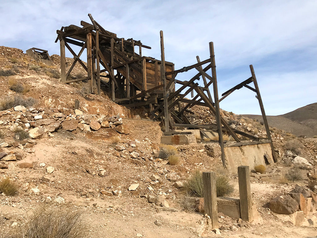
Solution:
[[[88,14],[91,24],[81,21],[81,26],[69,25],[57,30],[55,43],[60,40],[61,47],[61,81],[72,83],[88,80],[90,91],[97,88],[100,95],[100,83],[111,92],[112,100],[126,107],[146,107],[149,109],[149,115],[152,120],[161,121],[164,124],[164,135],[191,134],[191,132],[177,132],[175,129],[201,129],[201,133],[208,137],[204,131],[217,132],[219,144],[222,151],[222,162],[225,166],[224,147],[253,145],[261,143],[270,143],[272,157],[277,161],[267,118],[265,115],[259,87],[256,81],[253,66],[250,65],[251,77],[235,87],[229,89],[218,97],[216,63],[213,43],[209,43],[210,58],[200,61],[197,56],[197,63],[175,70],[174,64],[165,61],[163,31],[160,31],[161,39],[161,60],[152,57],[142,56],[142,47],[151,49],[143,45],[139,40],[132,38],[125,40],[117,37],[116,34],[102,28],[91,14]],[[78,54],[72,50],[69,44],[80,46]],[[135,47],[139,47],[139,52],[135,52]],[[66,72],[65,47],[74,56],[74,63]],[[87,49],[87,65],[80,59],[83,51]],[[80,63],[87,71],[87,77],[79,79],[68,79],[74,65]],[[104,69],[100,69],[100,64]],[[179,81],[176,76],[179,73],[196,69],[197,74],[188,81]],[[207,74],[207,70],[211,75]],[[100,73],[107,72],[107,75]],[[197,81],[202,77],[204,86],[199,86]],[[107,80],[107,79],[108,80]],[[254,88],[249,86],[254,84]],[[177,85],[177,86],[176,86]],[[209,86],[213,86],[212,99]],[[219,102],[229,96],[237,89],[246,87],[256,93],[259,101],[264,126],[267,132],[267,138],[258,138],[243,131],[231,128],[220,115]],[[193,92],[196,96],[193,96]],[[192,95],[192,99],[185,96]],[[181,102],[186,103],[184,107]],[[208,107],[215,115],[214,124],[199,125],[191,123],[184,115],[184,112],[194,105]],[[203,130],[204,129],[204,130]],[[229,143],[223,140],[223,131],[226,131],[235,140],[235,143]],[[249,141],[242,141],[237,134],[246,137]],[[240,136],[240,137],[241,137]],[[251,140],[251,141],[250,141]]]

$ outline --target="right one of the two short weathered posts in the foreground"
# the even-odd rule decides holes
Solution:
[[[243,221],[253,221],[249,166],[238,167],[240,211]]]

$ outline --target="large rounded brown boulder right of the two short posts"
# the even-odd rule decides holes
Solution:
[[[298,210],[299,204],[290,195],[281,195],[272,199],[268,207],[277,214],[292,214]]]

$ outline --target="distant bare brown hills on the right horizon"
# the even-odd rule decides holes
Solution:
[[[261,115],[243,115],[252,119],[262,120]],[[317,102],[298,108],[279,116],[267,116],[268,124],[295,136],[317,136]]]

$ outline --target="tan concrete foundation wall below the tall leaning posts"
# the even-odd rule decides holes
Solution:
[[[228,170],[232,173],[237,173],[240,165],[249,166],[250,169],[259,164],[265,165],[264,154],[272,156],[270,143],[225,147],[224,153]]]

